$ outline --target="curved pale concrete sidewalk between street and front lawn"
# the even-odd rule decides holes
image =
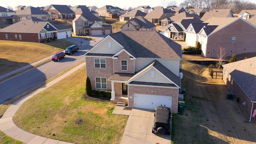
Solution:
[[[66,76],[69,76],[82,66],[85,66],[85,62],[76,66],[72,70],[66,72],[62,76],[52,80],[51,82],[45,84],[44,86],[38,88],[37,90],[34,90],[33,92],[30,92],[26,96],[23,96],[16,102],[14,102],[9,108],[4,112],[2,118],[0,118],[0,130],[4,132],[6,135],[19,140],[21,142],[24,142],[26,144],[72,144],[69,142],[62,142],[59,140],[53,140],[50,138],[44,138],[42,136],[37,136],[35,134],[31,134],[29,132],[25,132],[24,130],[18,128],[16,124],[12,121],[12,117],[17,112],[17,110],[20,108],[20,106],[26,102],[29,98],[32,98],[34,95],[38,94],[39,92],[45,90],[49,86],[52,86],[53,84],[56,84]]]

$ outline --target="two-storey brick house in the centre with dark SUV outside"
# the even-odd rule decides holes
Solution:
[[[111,90],[111,102],[121,97],[129,108],[162,104],[177,113],[182,51],[176,42],[156,31],[121,31],[84,56],[92,89]]]

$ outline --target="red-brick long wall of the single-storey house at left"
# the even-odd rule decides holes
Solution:
[[[8,34],[8,39],[6,39],[5,34]],[[15,34],[17,34],[17,38],[15,38]],[[19,38],[19,34],[21,34],[21,40]],[[12,40],[12,41],[22,41],[22,42],[39,42],[38,41],[38,34],[32,34],[32,33],[0,32],[0,40]]]

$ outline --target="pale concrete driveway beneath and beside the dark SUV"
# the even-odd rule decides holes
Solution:
[[[153,123],[154,110],[133,108],[120,144],[171,144],[171,135],[152,133]]]

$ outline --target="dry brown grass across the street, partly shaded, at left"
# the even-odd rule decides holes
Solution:
[[[0,75],[51,56],[71,44],[64,40],[48,43],[0,40]]]

